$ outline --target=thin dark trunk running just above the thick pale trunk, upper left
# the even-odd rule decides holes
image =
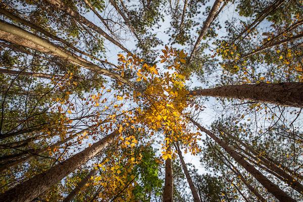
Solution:
[[[78,52],[78,53],[80,53],[80,54],[82,54],[82,55],[85,55],[85,56],[87,56],[87,57],[89,57],[89,58],[92,58],[92,59],[94,59],[94,60],[97,60],[97,61],[99,61],[99,62],[101,62],[101,63],[106,63],[106,64],[109,64],[109,65],[112,65],[112,66],[116,66],[116,65],[114,65],[114,64],[112,64],[112,63],[109,63],[109,62],[107,62],[107,61],[100,60],[100,59],[98,59],[98,58],[96,58],[96,57],[94,57],[94,56],[91,56],[91,55],[89,55],[89,54],[87,54],[87,53],[81,51],[79,48],[75,47],[74,45],[72,45],[72,44],[69,43],[68,41],[66,41],[66,40],[64,40],[64,39],[62,39],[62,38],[59,38],[58,36],[55,36],[55,35],[49,33],[48,31],[44,30],[43,28],[41,28],[41,27],[39,27],[39,26],[37,26],[37,25],[35,25],[35,24],[29,22],[29,21],[24,20],[24,19],[20,18],[19,16],[14,15],[14,14],[13,14],[12,12],[10,12],[10,11],[7,11],[7,10],[5,10],[5,9],[3,9],[3,8],[0,8],[0,13],[6,15],[7,17],[11,18],[12,20],[15,20],[15,21],[17,21],[17,22],[20,22],[20,23],[22,23],[22,24],[24,24],[24,25],[26,25],[26,26],[29,26],[29,27],[31,27],[31,28],[33,28],[33,29],[39,31],[40,33],[44,34],[45,36],[48,36],[49,38],[52,38],[52,39],[54,39],[54,40],[57,40],[57,41],[62,42],[62,43],[65,44],[67,47],[73,49],[74,51],[76,51],[76,52]]]

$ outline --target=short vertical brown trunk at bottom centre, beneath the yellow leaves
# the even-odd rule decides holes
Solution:
[[[173,202],[173,167],[172,160],[169,158],[165,161],[163,202]]]

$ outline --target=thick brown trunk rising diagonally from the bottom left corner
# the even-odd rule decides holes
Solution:
[[[102,140],[87,147],[80,153],[57,164],[51,169],[36,175],[35,177],[15,186],[0,195],[0,201],[3,202],[29,202],[35,197],[48,190],[52,185],[56,184],[66,175],[74,171],[76,168],[87,162],[89,159],[100,153],[106,148],[119,132],[114,131]]]

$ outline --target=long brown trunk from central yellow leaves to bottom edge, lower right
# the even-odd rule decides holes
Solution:
[[[198,123],[190,119],[190,121],[196,125],[201,131],[208,134],[214,139],[237,163],[239,163],[247,172],[254,176],[271,194],[273,194],[279,201],[296,201],[282,191],[277,185],[267,179],[259,170],[250,165],[240,155],[238,155],[231,147],[229,147],[224,141],[218,138],[214,133],[200,126]]]

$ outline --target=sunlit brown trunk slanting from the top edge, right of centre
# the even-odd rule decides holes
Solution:
[[[208,15],[206,21],[204,22],[203,28],[201,29],[200,34],[199,34],[199,36],[198,36],[198,38],[197,38],[197,40],[196,40],[196,42],[193,46],[189,61],[192,60],[192,58],[193,58],[193,56],[194,56],[194,54],[195,54],[195,52],[198,48],[198,45],[199,45],[200,41],[202,40],[202,38],[206,34],[208,28],[210,27],[211,23],[213,22],[214,17],[216,16],[216,13],[217,13],[217,11],[218,11],[222,2],[223,2],[223,0],[216,0],[216,2],[214,3],[213,8],[212,8],[210,14]]]

